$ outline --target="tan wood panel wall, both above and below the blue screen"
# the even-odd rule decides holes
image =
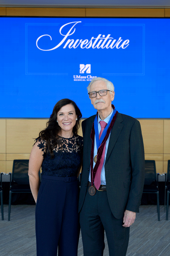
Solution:
[[[121,8],[10,8],[0,7],[1,16],[60,17],[170,17],[170,9]],[[90,102],[89,102],[90,104]],[[0,172],[12,171],[14,159],[29,159],[47,119],[0,119]],[[139,119],[145,159],[156,161],[159,173],[167,171],[170,159],[170,119]],[[82,130],[79,130],[82,135]]]

